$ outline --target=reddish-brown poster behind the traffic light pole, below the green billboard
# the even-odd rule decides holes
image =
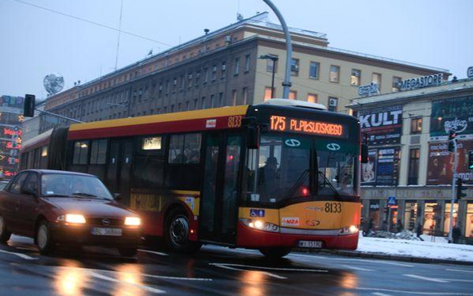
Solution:
[[[452,184],[454,154],[448,151],[447,142],[429,143],[429,163],[427,167],[427,185]],[[473,171],[468,170],[468,153],[473,151],[473,140],[458,141],[457,177],[465,184],[473,184]]]

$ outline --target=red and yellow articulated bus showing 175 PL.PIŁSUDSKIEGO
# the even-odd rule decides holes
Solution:
[[[101,178],[171,249],[354,250],[360,224],[356,118],[271,99],[55,128],[24,143],[21,167]]]

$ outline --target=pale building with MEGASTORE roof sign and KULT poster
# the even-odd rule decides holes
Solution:
[[[362,168],[363,217],[380,229],[446,235],[450,227],[454,153],[449,132],[456,130],[458,170],[467,196],[454,206],[454,225],[473,242],[473,78],[432,83],[435,75],[407,79],[410,90],[359,97],[348,107],[367,134],[369,162]],[[402,156],[402,157],[401,157]]]

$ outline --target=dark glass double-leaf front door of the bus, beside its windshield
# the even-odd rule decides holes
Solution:
[[[236,243],[240,144],[240,135],[207,135],[199,231],[202,240]]]

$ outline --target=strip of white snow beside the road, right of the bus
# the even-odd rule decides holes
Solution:
[[[446,244],[444,238],[423,237],[425,241],[369,238],[360,235],[358,249],[363,253],[389,254],[409,257],[473,262],[473,246]]]

